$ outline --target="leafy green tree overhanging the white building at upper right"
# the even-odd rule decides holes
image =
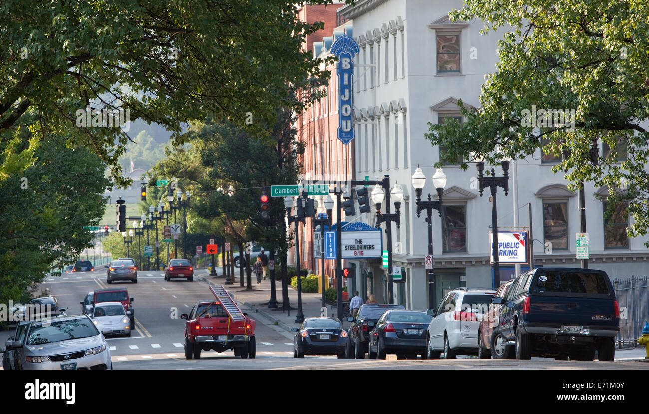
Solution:
[[[504,30],[500,62],[482,88],[482,107],[460,106],[467,121],[429,124],[427,138],[446,149],[447,159],[480,157],[495,164],[539,147],[563,153],[554,171],[568,170],[571,189],[582,180],[607,186],[609,201],[628,203],[634,219],[629,236],[646,234],[648,13],[643,0],[465,1],[450,18],[482,19],[485,33]],[[548,113],[537,113],[533,122],[535,109]],[[574,110],[575,117],[557,119],[554,110]],[[613,156],[598,156],[593,165],[589,154],[597,141],[613,149]],[[615,152],[624,149],[626,160],[615,162]]]

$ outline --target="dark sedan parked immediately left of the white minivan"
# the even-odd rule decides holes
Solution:
[[[397,354],[398,359],[426,358],[426,332],[432,317],[426,312],[388,310],[369,335],[369,358],[386,359]]]

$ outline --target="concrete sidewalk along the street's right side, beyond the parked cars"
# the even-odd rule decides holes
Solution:
[[[217,274],[221,274],[218,269]],[[257,284],[257,280],[254,277],[254,274],[252,274],[252,290],[246,290],[245,287],[239,285],[239,275],[237,274],[236,276],[235,284],[231,285],[225,284],[224,276],[214,277],[201,275],[197,276],[197,279],[205,280],[210,284],[224,285],[227,291],[232,294],[234,300],[239,302],[239,304],[246,308],[250,308],[252,311],[261,313],[263,317],[269,319],[272,323],[276,323],[278,326],[281,326],[289,332],[291,331],[291,328],[297,328],[300,326],[299,323],[295,323],[295,315],[297,315],[297,290],[293,289],[291,286],[288,287],[288,297],[291,310],[282,311],[282,284],[276,280],[275,295],[278,307],[273,310],[268,308],[268,302],[271,298],[270,278],[262,280],[260,284]],[[323,313],[323,311],[321,311],[321,306],[321,293],[302,293],[302,313],[305,318],[320,316]],[[336,316],[336,312],[336,306],[327,305],[326,310],[324,310],[324,315]],[[349,328],[349,322],[344,320],[343,326]]]

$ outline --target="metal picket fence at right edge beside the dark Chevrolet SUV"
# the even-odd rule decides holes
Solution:
[[[613,286],[620,306],[620,334],[615,339],[616,346],[635,347],[644,322],[649,321],[649,276],[615,279]]]

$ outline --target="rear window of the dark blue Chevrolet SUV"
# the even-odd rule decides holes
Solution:
[[[609,287],[602,273],[544,271],[537,273],[533,293],[578,293],[582,295],[609,295]]]

